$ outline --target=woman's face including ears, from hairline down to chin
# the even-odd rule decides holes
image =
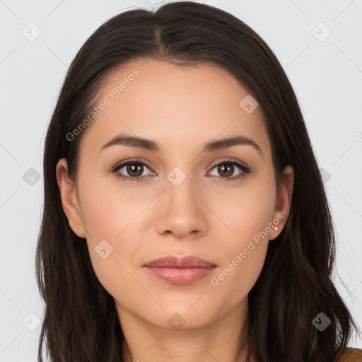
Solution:
[[[77,184],[64,182],[64,159],[57,175],[70,226],[86,238],[121,319],[191,328],[245,308],[292,191],[276,193],[260,107],[222,69],[153,60],[115,71],[99,99],[81,141]],[[109,144],[121,135],[148,141]],[[184,270],[185,279],[156,269],[167,280],[145,267],[168,255],[216,267]],[[206,275],[197,279],[198,271]]]

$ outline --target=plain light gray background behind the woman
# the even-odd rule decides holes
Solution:
[[[0,0],[0,362],[37,360],[43,304],[34,255],[43,202],[42,149],[66,70],[107,19],[155,4],[160,2]],[[296,91],[337,229],[335,283],[362,327],[362,1],[206,4],[233,13],[259,33]],[[37,28],[37,39],[23,35],[35,36]],[[332,33],[324,39],[328,28]],[[33,185],[30,176],[23,178],[29,168],[40,174]],[[362,348],[361,339],[351,346]]]

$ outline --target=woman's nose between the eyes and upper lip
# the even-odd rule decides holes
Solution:
[[[156,228],[158,233],[172,234],[177,239],[198,238],[207,232],[209,210],[205,206],[206,191],[192,187],[189,177],[180,184],[165,182],[158,200]]]

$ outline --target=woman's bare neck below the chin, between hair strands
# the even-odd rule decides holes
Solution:
[[[151,324],[117,305],[124,334],[123,361],[126,362],[246,362],[247,350],[240,344],[240,332],[247,315],[247,299],[227,315],[202,327],[174,330]],[[250,362],[255,361],[254,358]]]

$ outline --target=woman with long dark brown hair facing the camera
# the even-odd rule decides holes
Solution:
[[[40,361],[362,361],[296,95],[238,18],[178,2],[101,25],[44,177]]]

